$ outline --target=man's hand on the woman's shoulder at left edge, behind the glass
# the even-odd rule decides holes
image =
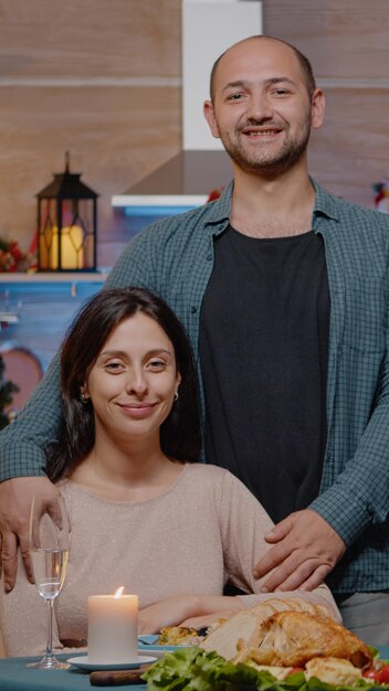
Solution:
[[[44,497],[48,504],[59,490],[45,477],[23,477],[0,483],[0,573],[4,576],[4,591],[14,586],[18,570],[18,544],[23,556],[30,583],[34,582],[29,554],[29,520],[32,498]]]

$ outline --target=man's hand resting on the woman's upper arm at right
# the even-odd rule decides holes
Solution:
[[[262,592],[313,591],[346,551],[338,533],[316,511],[304,509],[286,517],[265,536],[274,546],[254,567]]]

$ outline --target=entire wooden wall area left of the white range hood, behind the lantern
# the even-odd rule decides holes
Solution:
[[[181,148],[180,4],[0,0],[0,234],[29,246],[34,194],[70,150],[101,194],[98,264],[115,261],[111,196]]]

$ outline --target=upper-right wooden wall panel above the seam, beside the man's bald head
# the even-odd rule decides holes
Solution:
[[[389,82],[387,0],[264,0],[264,33],[295,44],[317,77]]]

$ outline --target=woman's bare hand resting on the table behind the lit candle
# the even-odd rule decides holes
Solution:
[[[139,634],[159,634],[165,626],[202,628],[243,609],[239,597],[224,595],[176,595],[139,612]],[[193,621],[193,624],[189,624]]]

